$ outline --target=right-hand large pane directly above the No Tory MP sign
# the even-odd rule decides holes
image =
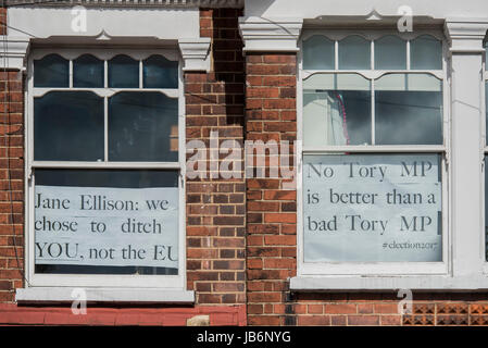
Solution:
[[[442,83],[427,74],[375,82],[377,145],[442,145]]]

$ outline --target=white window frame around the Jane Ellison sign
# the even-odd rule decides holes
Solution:
[[[66,88],[34,87],[34,60],[45,55],[59,54],[70,61],[70,85]],[[104,87],[73,87],[73,60],[83,55],[92,54],[104,61]],[[108,60],[125,54],[139,61],[138,88],[110,88],[108,87]],[[178,62],[177,88],[143,88],[142,61],[153,54],[162,55],[170,61]],[[75,47],[75,48],[35,48],[27,59],[27,78],[25,90],[24,122],[25,136],[25,276],[29,287],[104,287],[104,288],[161,288],[166,290],[186,289],[186,228],[185,228],[185,96],[183,78],[183,59],[178,50],[173,47],[153,48],[124,48],[124,47]],[[48,91],[93,91],[104,97],[104,161],[35,161],[34,160],[34,98]],[[108,97],[120,91],[158,91],[170,98],[178,99],[178,161],[176,162],[109,162],[108,161]],[[88,170],[173,170],[178,172],[178,274],[177,275],[123,275],[123,274],[41,274],[35,273],[35,231],[33,228],[35,209],[34,190],[36,169],[88,169]]]

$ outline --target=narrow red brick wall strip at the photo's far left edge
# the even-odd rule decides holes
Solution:
[[[0,71],[0,303],[23,286],[24,104],[22,73]]]

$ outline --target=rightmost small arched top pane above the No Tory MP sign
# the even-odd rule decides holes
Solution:
[[[410,65],[412,70],[442,70],[442,44],[429,35],[412,40]]]

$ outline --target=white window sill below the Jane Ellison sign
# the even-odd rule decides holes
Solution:
[[[18,288],[17,302],[73,302],[82,300],[74,287]],[[76,288],[79,289],[79,288]],[[161,288],[84,288],[88,302],[193,303],[195,293]],[[73,296],[72,296],[73,294]]]

